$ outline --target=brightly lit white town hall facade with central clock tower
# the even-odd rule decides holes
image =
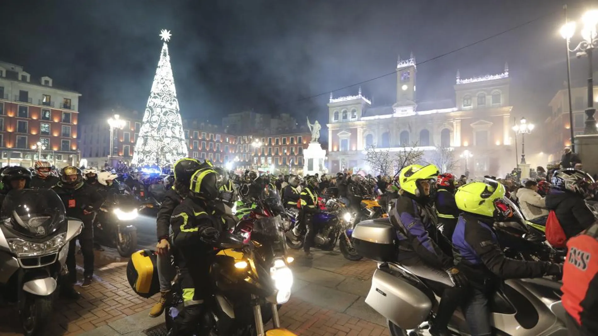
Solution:
[[[361,93],[331,97],[328,103],[328,168],[367,167],[366,150],[399,152],[415,148],[429,162],[438,147],[450,150],[456,162],[453,173],[467,169],[470,176],[504,175],[512,162],[509,104],[509,72],[476,78],[461,78],[457,71],[452,101],[419,102],[416,97],[416,61],[400,60],[396,66],[396,102],[392,106],[371,106]],[[465,150],[472,154],[460,160]],[[514,155],[514,154],[512,154]],[[442,167],[440,167],[443,169]]]

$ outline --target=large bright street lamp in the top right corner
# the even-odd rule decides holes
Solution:
[[[565,16],[566,16],[566,6],[565,6]],[[592,54],[594,48],[598,47],[598,39],[596,39],[596,25],[598,24],[598,11],[597,10],[590,10],[585,12],[585,14],[581,17],[581,21],[583,22],[584,26],[581,29],[581,38],[583,39],[577,47],[573,48],[572,50],[569,48],[569,43],[573,34],[575,33],[575,22],[565,22],[565,24],[561,27],[560,33],[565,39],[567,43],[567,59],[568,59],[568,82],[570,83],[570,70],[569,70],[569,53],[576,53],[575,56],[578,58],[581,56],[588,57],[588,107],[585,109],[585,128],[584,134],[596,134],[598,131],[596,130],[596,120],[594,120],[594,113],[596,109],[594,109],[594,78],[593,78],[593,67],[592,67]],[[573,115],[571,112],[571,88],[569,84],[569,122],[570,122],[570,132],[571,132],[571,146],[574,147],[573,144]]]

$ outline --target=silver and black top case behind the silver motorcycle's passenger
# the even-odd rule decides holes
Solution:
[[[353,229],[353,246],[359,255],[381,263],[396,260],[395,229],[389,218],[365,220]]]

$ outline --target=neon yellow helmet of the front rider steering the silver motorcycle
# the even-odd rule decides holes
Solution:
[[[462,211],[486,217],[499,217],[508,215],[507,212],[511,210],[510,206],[502,202],[504,196],[505,186],[502,183],[470,182],[457,189],[454,201]]]

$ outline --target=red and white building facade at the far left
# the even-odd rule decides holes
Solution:
[[[0,164],[77,164],[79,97],[50,77],[34,79],[22,66],[0,61]]]

